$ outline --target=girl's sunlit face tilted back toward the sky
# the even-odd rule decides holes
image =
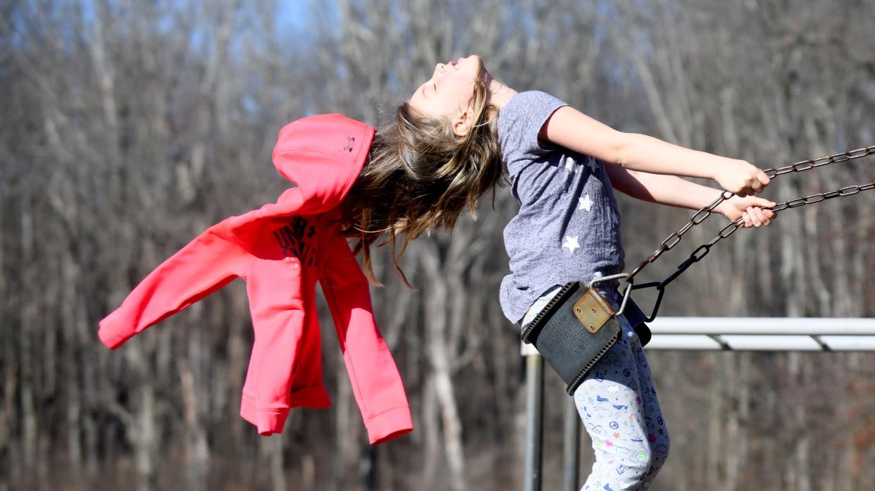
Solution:
[[[438,63],[431,78],[416,89],[408,104],[423,115],[450,118],[453,131],[464,135],[472,118],[474,81],[482,64],[476,54]]]

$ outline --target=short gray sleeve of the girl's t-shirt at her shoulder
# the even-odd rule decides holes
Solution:
[[[537,90],[521,92],[507,102],[498,116],[498,138],[508,168],[521,160],[541,158],[555,148],[539,144],[538,133],[556,109],[567,105]]]

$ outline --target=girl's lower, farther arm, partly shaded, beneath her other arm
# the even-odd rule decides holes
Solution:
[[[701,186],[676,176],[630,171],[610,163],[606,163],[605,167],[611,185],[638,200],[697,210],[707,207],[720,195],[718,189]],[[774,206],[774,201],[758,197],[733,196],[720,203],[715,211],[732,221],[738,220],[739,216],[745,217],[745,228],[760,227],[768,225],[775,215],[773,211],[761,208]]]

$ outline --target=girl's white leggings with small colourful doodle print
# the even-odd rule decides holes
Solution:
[[[535,300],[521,327],[531,322],[557,291],[558,285]],[[618,307],[616,290],[598,291]],[[626,335],[620,336],[574,391],[577,412],[596,456],[582,491],[647,489],[669,456],[669,430],[662,419],[647,356],[626,316],[618,320]]]

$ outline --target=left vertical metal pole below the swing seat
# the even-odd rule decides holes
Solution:
[[[522,486],[525,491],[541,491],[544,359],[535,347],[525,343],[521,353],[526,358],[526,454]]]

